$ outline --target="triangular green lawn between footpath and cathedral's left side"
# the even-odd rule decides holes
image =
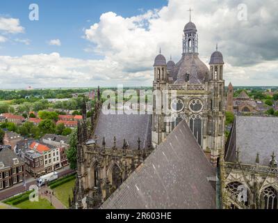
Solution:
[[[63,185],[54,188],[55,197],[60,200],[67,208],[69,208],[69,195],[70,199],[73,197],[72,188],[74,188],[75,181],[75,179],[72,179]]]

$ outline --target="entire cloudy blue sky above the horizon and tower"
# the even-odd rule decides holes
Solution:
[[[226,85],[278,85],[276,0],[1,0],[0,88],[152,86],[160,47],[181,59],[189,8],[199,57],[208,66],[218,44]]]

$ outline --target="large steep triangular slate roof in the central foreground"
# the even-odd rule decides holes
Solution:
[[[101,208],[216,208],[215,169],[181,121]]]

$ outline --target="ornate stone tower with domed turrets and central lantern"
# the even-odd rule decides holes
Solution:
[[[193,22],[183,29],[179,62],[158,54],[154,60],[152,144],[157,146],[183,119],[211,162],[224,148],[223,56],[216,49],[210,69],[199,59],[198,34]],[[165,72],[166,69],[166,72]],[[158,91],[163,91],[158,93]],[[167,95],[165,95],[167,94]]]

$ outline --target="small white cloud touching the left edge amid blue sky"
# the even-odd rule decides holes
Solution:
[[[24,27],[20,26],[19,19],[0,17],[0,31],[5,33],[24,33]]]

